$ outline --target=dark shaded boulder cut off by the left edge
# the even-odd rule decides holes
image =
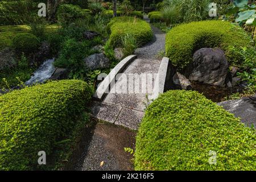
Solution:
[[[5,48],[0,51],[0,71],[11,69],[17,64],[13,49]]]

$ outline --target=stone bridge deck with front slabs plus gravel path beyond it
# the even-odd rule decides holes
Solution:
[[[118,79],[103,101],[94,101],[92,115],[95,118],[138,129],[161,62],[157,55],[164,52],[166,35],[158,28],[151,27],[154,33],[151,42],[135,50],[137,59],[122,72],[122,78],[126,78],[127,82]],[[146,81],[143,82],[143,79]],[[118,93],[117,89],[121,92]]]

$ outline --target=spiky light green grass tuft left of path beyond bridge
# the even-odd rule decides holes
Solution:
[[[134,50],[137,48],[137,42],[133,35],[126,34],[122,37],[122,48],[124,57],[133,55]]]

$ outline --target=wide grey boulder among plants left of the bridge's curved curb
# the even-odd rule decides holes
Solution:
[[[110,60],[104,53],[94,53],[94,55],[86,57],[84,63],[86,67],[92,70],[110,67]]]

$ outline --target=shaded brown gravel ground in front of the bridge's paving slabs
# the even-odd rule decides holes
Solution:
[[[135,150],[134,131],[110,123],[94,121],[91,131],[82,140],[90,142],[80,146],[80,156],[74,159],[69,169],[79,171],[133,170],[133,155],[125,152],[124,147]],[[78,154],[79,155],[79,154]],[[101,165],[101,163],[103,164]]]

